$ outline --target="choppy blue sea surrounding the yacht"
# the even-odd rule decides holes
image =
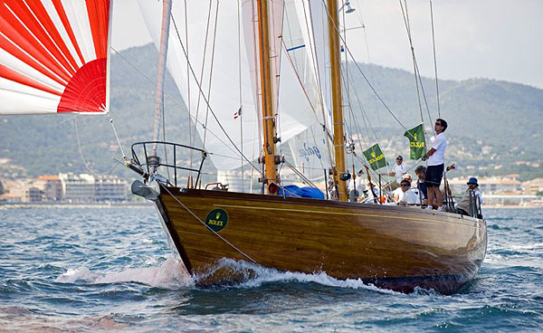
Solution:
[[[484,213],[481,271],[443,296],[258,266],[201,289],[153,208],[0,210],[0,331],[540,332],[543,210]]]

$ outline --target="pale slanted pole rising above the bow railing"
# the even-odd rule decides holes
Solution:
[[[162,2],[162,25],[160,28],[160,50],[158,51],[157,90],[155,94],[155,123],[153,127],[153,140],[158,140],[160,131],[160,111],[164,105],[164,78],[166,74],[167,42],[169,37],[170,14],[172,12],[172,1]],[[153,156],[157,156],[157,144],[153,144]]]

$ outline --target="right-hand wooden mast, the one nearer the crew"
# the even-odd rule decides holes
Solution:
[[[334,167],[334,179],[338,186],[338,198],[340,201],[347,201],[347,184],[339,179],[341,173],[347,171],[345,164],[345,132],[343,128],[343,107],[341,105],[341,73],[339,60],[339,38],[338,38],[338,0],[327,0],[328,2],[328,25],[330,44],[330,76],[332,83],[332,111],[334,120],[334,152],[336,166]]]

